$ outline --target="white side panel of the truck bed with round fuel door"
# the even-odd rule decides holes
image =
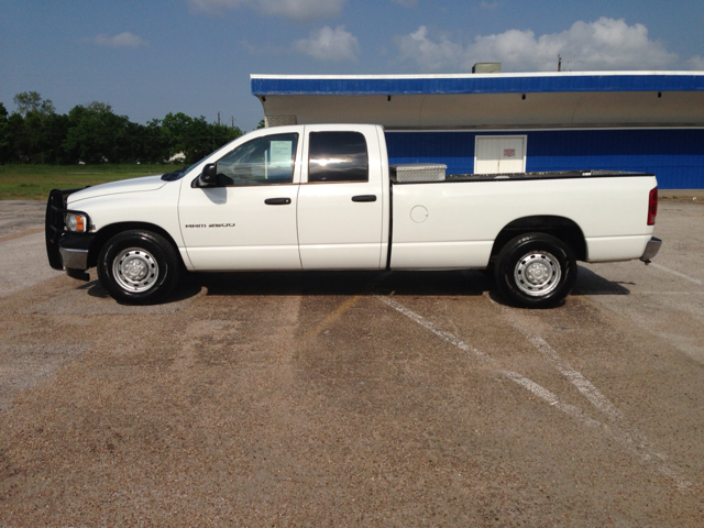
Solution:
[[[590,262],[639,258],[654,186],[652,176],[397,184],[391,267],[486,267],[498,233],[535,216],[575,222]]]

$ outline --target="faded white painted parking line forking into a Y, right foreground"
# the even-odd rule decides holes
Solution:
[[[634,435],[629,433],[628,431],[622,430],[623,429],[623,427],[620,427],[622,425],[619,425],[619,427],[607,426],[607,425],[602,424],[602,422],[600,422],[597,420],[594,420],[593,418],[590,418],[588,416],[584,415],[584,413],[581,409],[579,409],[578,407],[560,402],[559,398],[557,397],[557,395],[554,395],[553,393],[551,393],[547,388],[542,387],[541,385],[535,383],[534,381],[531,381],[531,380],[529,380],[529,378],[527,378],[527,377],[525,377],[525,376],[522,376],[522,375],[520,375],[520,374],[518,374],[516,372],[513,372],[513,371],[509,371],[509,370],[506,370],[506,369],[502,369],[498,365],[498,362],[496,360],[494,360],[493,358],[491,358],[490,355],[485,354],[484,352],[482,352],[481,350],[479,350],[479,349],[476,349],[474,346],[469,345],[468,343],[465,343],[464,341],[462,341],[458,337],[453,336],[452,333],[450,333],[450,332],[448,332],[446,330],[442,330],[440,327],[438,327],[435,323],[428,321],[422,316],[416,314],[413,310],[409,310],[408,308],[406,308],[405,306],[400,305],[399,302],[396,302],[391,297],[382,296],[382,295],[378,295],[378,294],[372,294],[372,295],[374,295],[374,297],[376,297],[382,302],[384,302],[384,304],[388,305],[389,307],[394,308],[399,314],[403,314],[404,316],[408,317],[409,319],[411,319],[413,321],[417,322],[421,327],[426,328],[427,330],[430,330],[432,333],[435,333],[439,338],[443,339],[444,341],[453,344],[454,346],[457,346],[458,349],[460,349],[460,350],[462,350],[464,352],[471,353],[474,358],[480,360],[482,363],[485,363],[485,364],[488,364],[488,365],[495,367],[497,373],[502,374],[503,376],[509,378],[510,381],[513,381],[513,382],[517,383],[518,385],[520,385],[521,387],[526,388],[527,391],[529,391],[531,394],[534,394],[538,398],[540,398],[543,402],[548,403],[551,407],[554,407],[556,409],[561,410],[562,413],[564,413],[568,416],[572,417],[573,419],[584,424],[587,427],[601,428],[610,438],[613,438],[615,441],[617,441],[618,443],[624,446],[628,451],[630,451],[632,454],[635,454],[638,458],[640,458],[644,462],[652,462],[652,463],[654,463],[656,468],[658,469],[658,471],[660,471],[660,473],[662,473],[663,475],[668,476],[669,479],[672,479],[673,481],[675,481],[676,486],[680,490],[688,490],[689,487],[691,487],[692,484],[690,482],[688,482],[688,481],[683,480],[682,477],[680,477],[678,472],[675,470],[673,470],[672,468],[670,468],[670,465],[668,465],[666,463],[666,457],[664,455],[653,451],[648,446],[649,442],[646,442],[645,439],[640,440],[640,441],[635,441],[634,440]],[[536,342],[539,342],[539,341],[536,341]],[[546,345],[548,345],[544,342],[544,340],[542,340],[542,342]],[[535,345],[535,343],[534,343],[534,345]],[[550,350],[552,350],[552,349],[550,349]],[[554,351],[552,351],[552,352],[557,356],[557,352],[554,352]],[[554,361],[553,363],[556,365],[558,363],[561,364],[563,369],[564,369],[564,365],[569,366],[569,364],[566,364],[566,362],[560,360],[559,356],[557,356],[557,361]],[[570,367],[570,370],[566,370],[566,369],[564,369],[564,370],[566,372],[574,372],[574,373],[579,374],[576,371],[574,371],[571,367]],[[573,380],[581,380],[580,383],[581,383],[582,387],[584,387],[586,394],[591,395],[590,402],[592,402],[592,404],[594,404],[597,408],[600,408],[598,406],[602,406],[604,409],[606,409],[605,414],[607,414],[607,416],[610,415],[610,416],[620,417],[620,413],[610,404],[610,402],[608,402],[608,399],[606,399],[581,374],[579,374],[579,376],[573,376]],[[580,388],[579,385],[575,385],[575,386],[578,387],[578,389]],[[590,386],[592,387],[592,389],[588,389]],[[585,394],[585,393],[582,392],[582,394]],[[596,402],[596,404],[595,404],[595,402]],[[622,420],[619,420],[619,421],[622,421]]]

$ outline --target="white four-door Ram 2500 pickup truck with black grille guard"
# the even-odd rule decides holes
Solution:
[[[648,263],[657,205],[651,174],[446,176],[389,167],[378,125],[278,127],[183,172],[53,190],[46,246],[123,302],[162,300],[186,270],[493,268],[538,308],[564,300],[576,261]]]

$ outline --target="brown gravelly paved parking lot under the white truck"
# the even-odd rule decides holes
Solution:
[[[704,526],[702,201],[552,310],[476,271],[123,306],[2,202],[0,526]]]

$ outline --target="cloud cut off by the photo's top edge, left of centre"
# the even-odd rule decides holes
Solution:
[[[223,9],[243,6],[264,14],[306,22],[338,16],[346,0],[188,0],[195,9],[208,13],[221,13]]]

